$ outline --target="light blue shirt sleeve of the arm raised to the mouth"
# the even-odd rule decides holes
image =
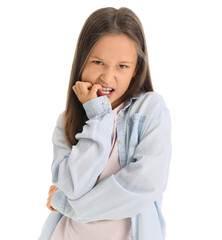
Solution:
[[[70,199],[90,191],[108,163],[114,116],[107,96],[83,104],[89,120],[72,148],[64,136],[62,114],[53,132],[52,182]]]

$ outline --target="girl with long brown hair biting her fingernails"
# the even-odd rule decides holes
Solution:
[[[140,20],[92,13],[80,33],[40,240],[162,240],[170,114],[153,91]]]

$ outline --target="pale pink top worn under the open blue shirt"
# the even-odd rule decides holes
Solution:
[[[108,178],[121,169],[117,146],[116,119],[120,109],[124,107],[121,103],[115,109],[114,128],[112,133],[112,147],[109,161],[98,177],[96,182],[99,183],[104,178]],[[50,240],[129,240],[130,239],[131,218],[119,220],[101,220],[88,223],[78,223],[63,216],[57,224]]]

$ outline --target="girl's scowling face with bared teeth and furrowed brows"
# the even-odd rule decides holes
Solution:
[[[102,85],[103,90],[97,95],[107,95],[111,104],[115,101],[112,104],[115,108],[136,74],[136,66],[134,42],[124,34],[106,35],[93,47],[82,72],[82,81]]]

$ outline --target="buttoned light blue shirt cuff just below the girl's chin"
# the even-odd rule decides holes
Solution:
[[[89,100],[83,104],[83,108],[89,119],[112,110],[111,103],[107,96],[100,96]]]

